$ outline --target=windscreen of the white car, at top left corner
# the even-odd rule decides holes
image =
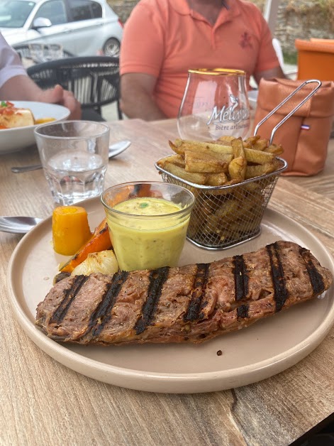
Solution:
[[[21,28],[34,6],[34,1],[1,0],[0,28]]]

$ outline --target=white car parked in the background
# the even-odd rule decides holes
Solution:
[[[106,0],[0,0],[9,45],[57,43],[76,56],[118,56],[123,23]]]

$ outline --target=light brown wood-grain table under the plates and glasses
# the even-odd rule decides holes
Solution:
[[[106,187],[157,180],[154,161],[170,153],[175,121],[113,121],[111,141],[132,146],[110,162]],[[1,156],[0,214],[48,217],[53,208],[36,148]],[[296,219],[334,254],[334,141],[313,178],[280,178],[269,207]],[[289,445],[334,412],[334,329],[299,364],[265,381],[193,395],[131,391],[94,381],[40,350],[16,322],[6,271],[21,236],[0,233],[1,445]]]

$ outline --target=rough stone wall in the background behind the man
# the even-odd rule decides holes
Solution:
[[[108,0],[108,3],[125,23],[138,1]],[[265,0],[253,0],[253,3],[263,11]],[[296,53],[296,38],[334,39],[333,0],[281,0],[274,35],[280,40],[284,53],[289,54]]]

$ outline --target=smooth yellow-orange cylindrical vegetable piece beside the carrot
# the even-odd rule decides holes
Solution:
[[[52,214],[53,249],[58,254],[72,256],[91,238],[84,207],[59,206]]]

